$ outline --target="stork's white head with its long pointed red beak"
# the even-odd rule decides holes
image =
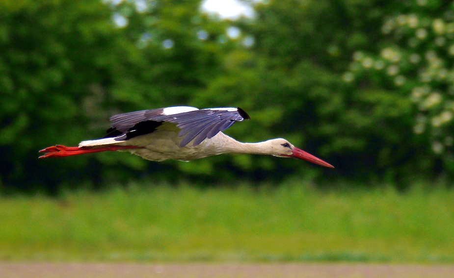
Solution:
[[[296,148],[294,145],[290,144],[289,141],[283,138],[271,139],[266,142],[270,145],[269,149],[271,150],[271,155],[304,159],[321,166],[334,168],[331,164],[324,162],[320,158]]]

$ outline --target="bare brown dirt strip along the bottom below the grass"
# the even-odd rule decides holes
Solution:
[[[454,265],[355,263],[10,263],[0,278],[454,278]]]

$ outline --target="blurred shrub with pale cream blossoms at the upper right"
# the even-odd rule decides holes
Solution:
[[[373,77],[378,86],[407,95],[415,104],[413,131],[432,151],[452,157],[454,143],[454,3],[398,3],[384,18],[377,53],[356,51],[345,82]]]

